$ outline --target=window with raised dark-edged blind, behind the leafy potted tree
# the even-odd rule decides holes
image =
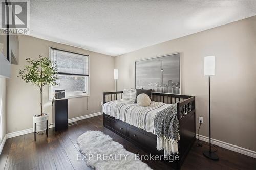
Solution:
[[[89,56],[55,48],[50,55],[60,77],[59,85],[49,88],[50,98],[55,90],[65,90],[66,97],[89,95]]]

